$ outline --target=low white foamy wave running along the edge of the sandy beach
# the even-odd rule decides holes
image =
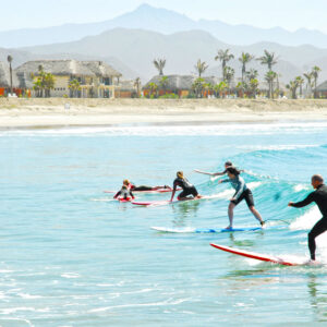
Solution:
[[[107,135],[107,136],[197,136],[197,135],[270,135],[303,134],[326,131],[327,122],[287,122],[287,123],[221,123],[215,125],[129,125],[129,126],[70,126],[44,130],[19,129],[3,130],[0,136],[60,136],[60,135]]]

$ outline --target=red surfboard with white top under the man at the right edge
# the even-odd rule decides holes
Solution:
[[[278,256],[272,256],[272,255],[266,255],[266,254],[259,254],[259,253],[255,253],[255,252],[250,252],[250,251],[244,251],[244,250],[240,250],[240,249],[235,249],[235,247],[230,247],[230,246],[225,246],[225,245],[219,245],[219,244],[215,244],[215,243],[210,243],[211,246],[228,252],[228,253],[232,253],[232,254],[237,254],[237,255],[241,255],[241,256],[245,256],[245,257],[250,257],[256,261],[262,261],[262,262],[267,262],[267,263],[272,263],[272,264],[277,264],[277,265],[283,265],[283,266],[304,266],[304,265],[311,265],[307,259],[303,261],[301,259],[283,259],[281,257]]]

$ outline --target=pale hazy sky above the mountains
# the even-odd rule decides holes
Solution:
[[[0,0],[0,31],[99,22],[145,2],[195,20],[289,31],[306,27],[327,34],[327,0]]]

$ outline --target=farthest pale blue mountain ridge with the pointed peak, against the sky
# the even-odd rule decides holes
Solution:
[[[146,29],[161,34],[199,29],[233,45],[270,41],[287,46],[307,44],[327,48],[327,35],[319,31],[301,28],[296,32],[288,32],[281,27],[258,28],[250,25],[230,25],[220,21],[194,21],[174,11],[148,4],[105,22],[0,32],[0,47],[16,48],[74,41],[117,27]]]

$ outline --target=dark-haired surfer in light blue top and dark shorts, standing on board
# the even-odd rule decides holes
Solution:
[[[229,217],[229,226],[226,229],[231,229],[233,227],[233,210],[234,207],[242,201],[245,199],[250,211],[254,215],[254,217],[261,222],[264,227],[265,221],[263,220],[258,210],[254,207],[253,195],[250,189],[247,189],[244,180],[240,177],[240,170],[235,167],[228,167],[226,172],[229,179],[220,180],[220,183],[231,183],[232,187],[235,190],[234,195],[230,199],[230,204],[228,206],[228,217]]]

